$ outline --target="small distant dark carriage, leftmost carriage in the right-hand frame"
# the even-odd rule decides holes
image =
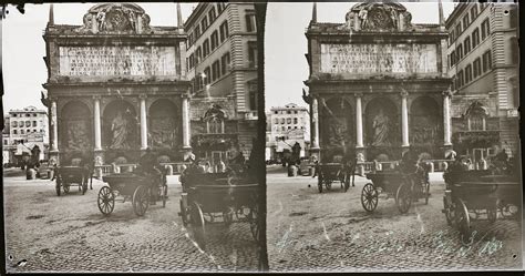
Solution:
[[[347,192],[350,187],[350,176],[353,184],[354,166],[347,167],[341,163],[325,163],[319,164],[316,170],[319,170],[317,178],[319,193],[322,193],[323,185],[327,191],[330,191],[333,182],[339,182],[343,192]]]

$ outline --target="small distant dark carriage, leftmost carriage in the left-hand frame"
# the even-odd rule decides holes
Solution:
[[[83,166],[59,166],[54,170],[56,195],[60,196],[70,192],[71,186],[78,186],[82,194],[87,191],[87,182],[93,190],[93,174],[90,168]]]

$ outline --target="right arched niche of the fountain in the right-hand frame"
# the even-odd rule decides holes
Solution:
[[[440,105],[430,96],[416,98],[410,106],[409,139],[412,145],[434,145],[443,141]]]

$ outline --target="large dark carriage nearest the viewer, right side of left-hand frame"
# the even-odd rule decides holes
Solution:
[[[246,173],[199,173],[187,170],[181,175],[183,194],[179,216],[200,246],[206,246],[206,225],[246,222],[258,241],[259,185]]]

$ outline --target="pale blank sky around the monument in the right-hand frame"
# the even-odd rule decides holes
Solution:
[[[344,16],[356,2],[319,2],[317,21],[344,23]],[[439,23],[436,1],[402,2],[412,13],[412,23]],[[445,19],[453,10],[452,1],[443,0]],[[312,3],[268,3],[265,27],[265,109],[302,101],[303,81],[308,79],[305,58],[308,41],[306,28],[311,20]]]

